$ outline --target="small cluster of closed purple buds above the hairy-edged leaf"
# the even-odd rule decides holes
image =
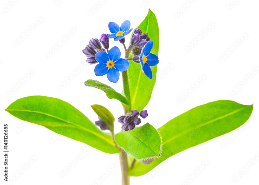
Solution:
[[[122,124],[121,129],[124,131],[133,130],[136,125],[141,123],[141,119],[138,117],[146,118],[148,113],[146,110],[139,111],[132,110],[128,116],[120,116],[118,122]]]

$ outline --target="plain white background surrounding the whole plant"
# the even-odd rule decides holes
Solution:
[[[88,79],[103,83],[108,80],[106,76],[95,76],[95,65],[80,68],[86,60],[82,48],[88,44],[90,38],[99,39],[102,33],[110,33],[110,21],[120,25],[124,20],[130,20],[131,27],[135,28],[146,17],[148,8],[156,14],[160,30],[160,62],[157,66],[157,78],[160,81],[156,83],[150,102],[145,108],[149,113],[145,121],[159,128],[195,106],[219,99],[229,99],[246,105],[254,103],[254,111],[241,132],[234,130],[185,150],[162,163],[159,170],[132,177],[131,184],[181,185],[192,175],[195,175],[195,179],[190,182],[193,185],[258,184],[259,160],[253,166],[249,166],[248,161],[259,152],[259,73],[255,73],[249,80],[246,78],[258,66],[258,1],[235,0],[236,4],[231,8],[228,7],[231,0],[11,2],[2,0],[0,5],[0,116],[1,133],[3,124],[9,124],[9,179],[16,177],[19,170],[23,170],[12,184],[94,184],[106,172],[109,176],[102,184],[120,184],[120,167],[116,164],[118,154],[106,154],[64,136],[59,136],[50,143],[50,139],[55,139],[54,132],[23,122],[4,109],[18,98],[44,95],[69,102],[93,122],[97,120],[97,116],[90,107],[92,104],[105,106],[114,117],[121,115],[123,108],[119,101],[110,100],[104,93],[99,95],[97,89],[84,86],[83,82]],[[179,9],[187,3],[190,6],[186,10],[182,9],[181,15],[176,18]],[[91,11],[95,12],[89,14]],[[38,25],[31,29],[32,24],[37,24],[38,18],[43,20],[39,20]],[[215,26],[204,35],[202,31],[210,23]],[[71,29],[76,31],[66,41],[62,39]],[[14,42],[26,31],[29,33],[26,38],[15,45]],[[248,35],[244,40],[241,39],[243,34]],[[186,47],[198,36],[202,39],[187,52]],[[125,43],[129,39],[130,34],[126,36]],[[236,47],[239,39],[242,42]],[[62,45],[48,57],[47,53],[59,42]],[[119,46],[123,56],[123,46],[118,41],[110,40],[110,47],[115,45]],[[219,58],[231,47],[234,47],[234,51],[220,63]],[[168,68],[169,65],[174,67]],[[81,69],[80,73],[74,73],[76,69]],[[30,70],[33,74],[22,83],[21,79]],[[64,89],[59,90],[58,86],[70,75],[74,75],[74,79]],[[194,88],[192,84],[201,75],[205,75],[206,79]],[[243,80],[246,82],[243,87],[231,95],[230,91]],[[17,83],[21,86],[10,97],[6,97]],[[118,83],[111,86],[121,92],[121,77]],[[177,99],[190,88],[193,92],[178,104]],[[116,122],[115,126],[119,131],[120,124]],[[17,130],[19,127],[20,131]],[[237,136],[222,148],[225,140],[234,133]],[[3,139],[0,146],[3,147]],[[77,161],[76,156],[84,148],[89,149],[89,152]],[[1,156],[2,154],[1,148]],[[23,165],[31,160],[31,156],[37,159],[25,169]],[[2,179],[3,160],[2,156],[1,184],[7,184]],[[76,165],[62,177],[60,173],[73,161],[76,161]],[[208,166],[201,173],[195,173],[203,165],[203,161],[209,162]],[[111,171],[113,166],[115,169]],[[234,183],[232,178],[246,166],[249,170]]]

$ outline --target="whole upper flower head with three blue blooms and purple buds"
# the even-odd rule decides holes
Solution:
[[[131,24],[128,20],[125,20],[121,26],[114,22],[109,22],[108,27],[111,34],[102,34],[100,40],[91,39],[83,49],[83,53],[87,56],[86,61],[89,64],[99,63],[94,70],[96,76],[107,75],[109,81],[116,83],[119,80],[119,72],[126,71],[129,67],[127,60],[133,60],[141,64],[142,72],[149,79],[153,78],[150,67],[159,63],[158,56],[150,53],[153,48],[153,41],[148,37],[148,33],[142,33],[140,29],[136,28],[132,33],[130,46],[126,49],[124,37],[133,30],[133,28],[130,29],[130,26]],[[116,46],[109,51],[110,38],[114,38],[115,41],[119,40],[128,54],[132,52],[133,58],[127,58],[127,60],[120,58],[121,52]],[[102,48],[102,45],[104,48]]]

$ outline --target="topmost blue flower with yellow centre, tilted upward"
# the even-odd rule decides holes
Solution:
[[[108,27],[111,31],[109,38],[114,38],[114,40],[123,39],[125,35],[129,34],[131,30],[133,30],[133,28],[130,29],[130,21],[128,20],[125,20],[120,27],[118,24],[110,22]]]

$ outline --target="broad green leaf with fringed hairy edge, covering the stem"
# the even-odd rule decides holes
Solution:
[[[149,123],[131,131],[121,131],[115,135],[115,140],[135,159],[160,156],[161,138],[157,130]]]

